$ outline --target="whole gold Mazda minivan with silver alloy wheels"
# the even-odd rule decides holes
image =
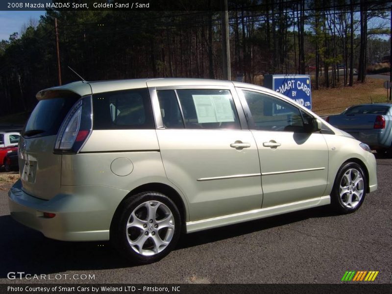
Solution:
[[[370,149],[276,92],[203,79],[79,81],[42,90],[20,140],[12,217],[66,241],[110,240],[138,263],[180,233],[377,189]]]

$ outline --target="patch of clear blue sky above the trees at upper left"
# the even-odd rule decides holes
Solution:
[[[0,11],[0,40],[8,40],[14,32],[20,33],[30,17],[39,20],[44,14],[45,11]]]

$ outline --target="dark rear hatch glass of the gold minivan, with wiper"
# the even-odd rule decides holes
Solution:
[[[78,98],[53,98],[39,101],[22,135],[28,138],[56,135],[68,111]]]

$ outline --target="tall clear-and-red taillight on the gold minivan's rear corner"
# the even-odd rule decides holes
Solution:
[[[57,134],[54,153],[75,154],[83,147],[92,130],[91,96],[80,98],[68,112]]]

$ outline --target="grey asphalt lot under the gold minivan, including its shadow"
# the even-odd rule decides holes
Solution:
[[[0,183],[0,283],[342,283],[347,270],[377,270],[372,283],[390,284],[391,172],[392,159],[377,154],[378,190],[354,214],[320,207],[189,234],[160,262],[138,267],[108,242],[50,240],[13,221],[10,184]]]

